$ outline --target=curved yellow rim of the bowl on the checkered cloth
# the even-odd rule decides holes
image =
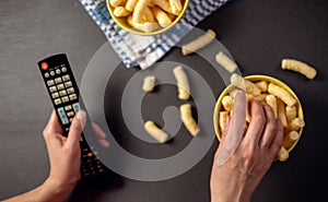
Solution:
[[[106,1],[106,4],[107,4],[107,10],[109,11],[110,13],[110,16],[112,19],[115,21],[116,24],[118,24],[118,26],[120,26],[122,29],[129,32],[129,33],[132,33],[132,34],[136,34],[136,35],[141,35],[141,36],[153,36],[153,35],[157,35],[157,34],[162,34],[168,29],[171,29],[173,26],[175,26],[179,21],[180,19],[185,15],[185,12],[187,11],[188,9],[188,4],[189,4],[189,0],[185,0],[185,4],[184,4],[184,9],[181,11],[181,13],[174,20],[174,22],[171,23],[171,25],[168,25],[167,27],[165,28],[162,28],[162,29],[159,29],[156,32],[152,32],[152,33],[144,33],[144,32],[141,32],[141,31],[137,31],[134,28],[131,28],[131,27],[127,27],[126,24],[121,23],[120,21],[117,20],[117,17],[114,15],[114,9],[112,9],[112,5],[109,4],[109,0]]]

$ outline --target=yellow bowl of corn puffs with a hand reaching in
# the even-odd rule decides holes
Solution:
[[[286,84],[268,75],[242,78],[238,74],[232,74],[231,85],[221,93],[213,115],[214,130],[219,141],[221,141],[226,118],[232,114],[234,97],[241,90],[245,91],[248,102],[267,103],[272,108],[274,117],[280,118],[284,129],[284,136],[283,145],[277,159],[280,162],[286,161],[289,153],[297,144],[305,127],[303,109],[296,94]],[[246,109],[245,131],[250,120],[250,112]]]

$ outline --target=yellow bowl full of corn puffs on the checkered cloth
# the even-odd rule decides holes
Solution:
[[[189,0],[107,0],[113,20],[137,35],[156,35],[183,17]]]

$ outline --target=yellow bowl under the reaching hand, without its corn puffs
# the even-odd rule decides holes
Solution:
[[[300,99],[297,98],[296,94],[283,82],[281,82],[280,80],[277,80],[274,78],[268,76],[268,75],[248,75],[245,76],[246,80],[249,80],[251,82],[257,82],[257,81],[266,81],[266,82],[271,82],[276,85],[279,85],[280,87],[284,88],[285,91],[288,91],[296,100],[297,100],[297,115],[300,118],[304,119],[303,116],[303,109],[302,109],[302,105]],[[220,131],[220,127],[219,127],[219,111],[221,110],[221,103],[222,99],[225,95],[227,95],[229,91],[234,87],[233,85],[229,85],[220,95],[219,99],[216,100],[215,104],[215,109],[214,109],[214,114],[213,114],[213,123],[214,123],[214,130],[215,130],[215,134],[216,138],[219,139],[219,141],[221,141],[221,131]],[[300,136],[303,132],[303,129],[300,130]],[[300,139],[298,139],[300,140]],[[297,144],[298,140],[296,142],[294,142],[294,144],[292,146],[289,147],[289,152],[291,152],[295,145]]]

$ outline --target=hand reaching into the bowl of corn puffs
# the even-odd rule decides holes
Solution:
[[[235,100],[235,105],[237,104]],[[218,157],[231,120],[213,161],[211,202],[249,202],[282,146],[283,128],[267,104],[249,103],[251,121],[234,154],[222,165]]]

